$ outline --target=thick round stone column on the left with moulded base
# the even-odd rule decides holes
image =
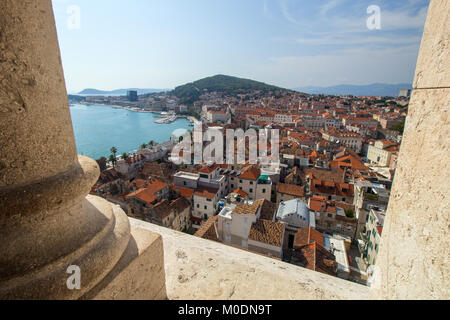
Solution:
[[[135,239],[119,207],[87,196],[98,176],[76,153],[51,0],[2,0],[0,299],[111,297],[108,281],[158,247]],[[80,289],[66,284],[72,265]]]

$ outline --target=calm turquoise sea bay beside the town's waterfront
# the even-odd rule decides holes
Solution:
[[[158,115],[107,106],[70,107],[78,154],[99,159],[108,158],[111,147],[118,155],[136,151],[143,143],[169,141],[177,129],[190,129],[187,119],[157,124]],[[184,130],[183,130],[184,131]]]

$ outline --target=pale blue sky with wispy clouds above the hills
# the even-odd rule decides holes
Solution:
[[[429,0],[53,0],[69,92],[412,82]],[[369,30],[367,8],[381,8]],[[79,25],[70,28],[76,19]],[[73,24],[72,24],[73,25]]]

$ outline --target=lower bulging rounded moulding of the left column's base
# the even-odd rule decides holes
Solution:
[[[119,261],[130,226],[120,208],[88,196],[66,215],[2,229],[0,237],[0,299],[77,299]],[[71,265],[81,269],[81,290],[67,288]]]

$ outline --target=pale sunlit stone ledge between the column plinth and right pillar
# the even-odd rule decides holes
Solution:
[[[279,260],[130,219],[164,243],[173,300],[367,299],[369,288]]]

